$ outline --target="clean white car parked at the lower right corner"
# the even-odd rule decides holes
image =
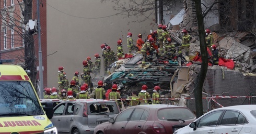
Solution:
[[[256,105],[235,105],[212,110],[173,134],[181,133],[256,133]]]

